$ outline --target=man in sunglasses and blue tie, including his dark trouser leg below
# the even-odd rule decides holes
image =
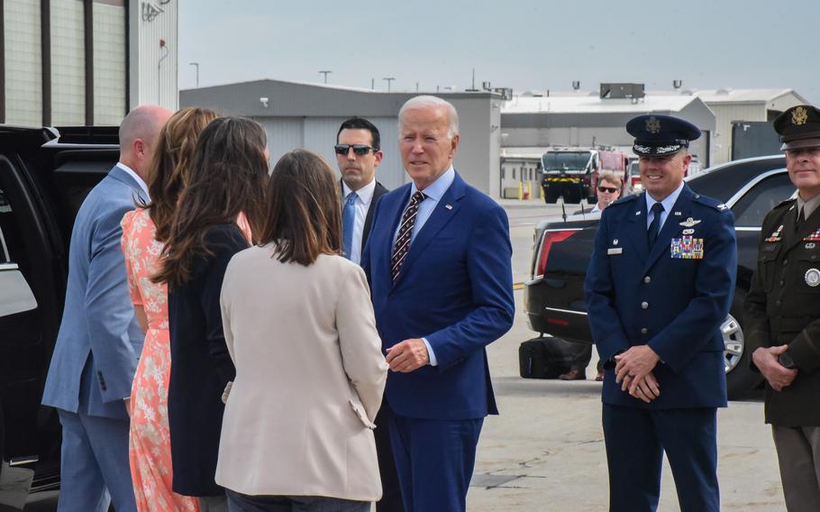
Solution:
[[[356,263],[360,263],[361,252],[368,242],[378,199],[388,192],[376,181],[376,168],[384,156],[380,147],[378,128],[362,117],[351,117],[336,133],[333,150],[342,173],[342,246],[344,256]],[[376,509],[378,512],[402,512],[401,490],[387,429],[389,417],[390,409],[383,401],[373,431],[382,487],[382,498]]]

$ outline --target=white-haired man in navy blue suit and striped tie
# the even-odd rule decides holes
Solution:
[[[485,347],[513,324],[509,224],[452,167],[451,104],[416,96],[398,119],[412,182],[378,202],[362,255],[391,370],[390,440],[407,512],[465,510],[478,434],[497,414]]]

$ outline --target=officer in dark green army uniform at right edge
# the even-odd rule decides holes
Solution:
[[[788,512],[820,507],[820,110],[797,105],[774,129],[797,197],[766,215],[743,330],[766,378],[766,423]]]

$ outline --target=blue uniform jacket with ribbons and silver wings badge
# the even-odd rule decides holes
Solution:
[[[732,212],[684,185],[651,249],[646,215],[642,195],[604,210],[584,289],[601,358],[611,361],[631,346],[648,344],[661,357],[653,370],[661,396],[649,404],[630,397],[615,384],[609,362],[603,401],[649,409],[725,407],[719,327],[737,269]],[[673,242],[680,241],[682,257],[674,257]]]

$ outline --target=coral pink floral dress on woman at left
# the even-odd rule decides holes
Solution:
[[[171,488],[171,444],[168,426],[168,383],[171,368],[168,288],[151,282],[158,268],[162,243],[148,210],[123,216],[123,254],[134,306],[142,306],[148,332],[131,391],[129,459],[137,510],[196,512],[198,500]]]

